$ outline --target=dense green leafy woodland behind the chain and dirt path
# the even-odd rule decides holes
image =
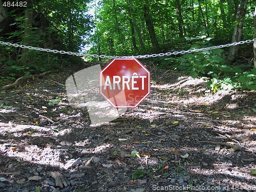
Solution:
[[[84,52],[89,45],[86,52],[90,54],[124,56],[186,51],[254,38],[255,2],[247,0],[27,0],[26,7],[7,2],[0,1],[0,40],[39,48]],[[253,45],[242,44],[150,58],[150,62],[208,78],[214,92],[255,89]],[[7,80],[81,62],[66,54],[1,47],[2,79]]]

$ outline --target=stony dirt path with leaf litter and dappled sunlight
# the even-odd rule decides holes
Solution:
[[[151,71],[139,108],[99,126],[68,103],[72,72],[1,92],[0,191],[255,191],[255,92]]]

